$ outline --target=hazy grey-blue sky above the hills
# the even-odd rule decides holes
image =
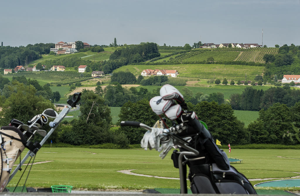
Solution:
[[[75,42],[300,45],[300,0],[1,1],[4,46]],[[263,36],[262,36],[263,29]]]

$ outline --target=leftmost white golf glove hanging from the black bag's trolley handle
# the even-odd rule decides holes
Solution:
[[[159,150],[159,143],[160,143],[160,137],[159,135],[162,134],[162,128],[153,128],[151,131],[147,131],[143,139],[141,140],[141,147],[147,150],[149,148],[152,150],[155,148],[155,150]]]

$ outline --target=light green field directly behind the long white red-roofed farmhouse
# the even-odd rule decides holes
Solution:
[[[262,75],[263,67],[261,66],[244,66],[244,65],[218,65],[218,64],[180,64],[180,65],[127,65],[116,69],[114,72],[126,70],[135,76],[141,74],[144,69],[176,69],[178,77],[203,78],[203,79],[220,79],[227,80],[253,80],[256,75]]]

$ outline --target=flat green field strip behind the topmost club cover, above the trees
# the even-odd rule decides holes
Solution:
[[[247,85],[250,86],[250,85]],[[213,92],[222,92],[224,94],[224,99],[229,99],[231,94],[241,94],[244,88],[247,87],[246,85],[211,85],[209,87],[203,86],[175,86],[179,91],[182,92],[182,88],[190,89],[194,94],[196,92],[202,92],[204,94],[211,94]],[[254,89],[257,90],[267,90],[271,86],[252,86]],[[138,86],[136,87],[138,90],[140,88],[146,88],[149,92],[152,92],[153,89],[161,88],[161,86]]]

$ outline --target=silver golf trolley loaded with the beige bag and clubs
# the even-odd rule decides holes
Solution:
[[[58,127],[58,125],[67,115],[67,113],[69,113],[69,111],[73,107],[76,107],[76,103],[80,100],[80,96],[81,93],[74,93],[72,100],[67,100],[69,106],[65,107],[59,114],[55,110],[48,108],[44,110],[42,114],[36,115],[31,120],[29,120],[27,124],[24,124],[23,122],[16,119],[12,119],[10,121],[9,126],[1,127],[0,129],[0,143],[1,143],[0,192],[4,191],[6,185],[15,176],[16,172],[18,170],[21,171],[21,165],[23,165],[29,157],[31,157],[29,163],[31,162],[32,157],[33,157],[32,163],[34,162],[38,150],[43,146],[46,140],[49,139],[53,131]],[[54,118],[54,120],[49,122],[49,126],[51,127],[51,129],[47,133],[45,130],[42,130],[41,128],[44,124],[48,122],[48,117]],[[41,140],[41,142],[32,143],[30,140],[33,138],[33,136],[35,136],[36,133],[41,135],[43,139]],[[12,171],[13,163],[20,156],[20,154],[25,149],[25,147],[29,149],[28,153],[25,155],[25,157],[22,160],[20,158],[20,163]],[[27,164],[26,168],[28,167],[29,163]],[[31,167],[29,169],[29,172],[31,170]],[[26,171],[26,168],[24,169],[23,174]],[[21,175],[20,180],[23,174]],[[19,184],[19,182],[17,183],[17,185]],[[23,189],[25,187],[25,183]]]

